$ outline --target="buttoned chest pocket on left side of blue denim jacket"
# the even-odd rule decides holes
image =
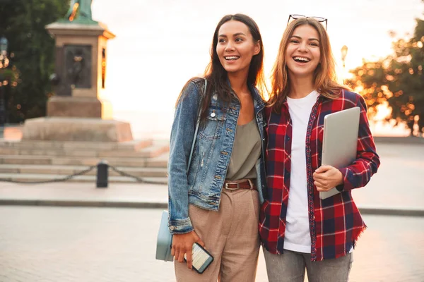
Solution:
[[[210,106],[208,114],[201,121],[199,137],[202,140],[216,140],[222,135],[225,123],[225,114],[218,106]]]

